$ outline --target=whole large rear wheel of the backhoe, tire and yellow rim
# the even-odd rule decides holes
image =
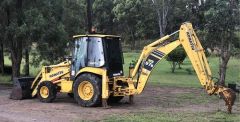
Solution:
[[[101,103],[101,79],[93,74],[80,75],[73,85],[74,99],[81,106],[91,107]]]

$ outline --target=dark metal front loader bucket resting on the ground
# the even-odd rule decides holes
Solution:
[[[22,100],[32,98],[31,85],[33,81],[34,78],[32,77],[14,78],[10,99]]]

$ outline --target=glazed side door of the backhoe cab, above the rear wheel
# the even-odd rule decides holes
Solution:
[[[72,78],[84,67],[100,68],[105,66],[102,38],[81,37],[75,40],[74,45],[71,67]]]

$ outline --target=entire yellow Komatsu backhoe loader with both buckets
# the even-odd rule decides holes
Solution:
[[[178,39],[171,41],[173,35]],[[231,112],[235,93],[213,81],[204,49],[191,23],[183,23],[180,30],[144,47],[139,59],[129,67],[128,76],[123,75],[123,53],[120,37],[114,35],[76,35],[71,59],[42,67],[33,78],[16,78],[11,93],[12,99],[37,96],[41,102],[52,102],[58,92],[69,93],[81,106],[108,106],[124,96],[141,94],[148,78],[167,54],[182,46],[198,76],[201,85],[209,95],[220,95]]]

